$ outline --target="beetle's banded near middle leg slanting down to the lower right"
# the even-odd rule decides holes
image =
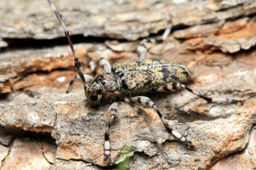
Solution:
[[[157,115],[161,118],[164,127],[166,127],[166,129],[168,130],[168,132],[172,133],[172,135],[179,139],[179,141],[181,141],[182,143],[184,143],[184,145],[186,145],[187,148],[193,149],[194,146],[192,145],[191,141],[188,141],[184,136],[182,136],[182,134],[180,134],[177,131],[174,131],[171,127],[171,125],[169,124],[168,120],[166,118],[163,117],[161,111],[159,110],[159,108],[157,108],[156,104],[154,104],[148,97],[144,97],[144,96],[137,96],[137,97],[124,97],[122,94],[120,94],[120,92],[114,92],[114,94],[122,99],[124,99],[124,101],[126,103],[131,104],[131,106],[134,107],[133,103],[136,103],[140,106],[143,106],[145,108],[153,108],[154,110],[156,110]],[[135,108],[136,109],[136,108]],[[136,109],[136,111],[138,111],[138,109]]]

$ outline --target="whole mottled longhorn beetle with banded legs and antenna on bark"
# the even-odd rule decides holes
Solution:
[[[131,62],[124,62],[116,64],[116,66],[111,67],[108,60],[104,58],[99,59],[100,66],[103,67],[106,73],[100,73],[95,78],[87,74],[83,74],[83,69],[76,56],[74,46],[72,44],[70,35],[67,28],[61,19],[60,13],[56,10],[54,4],[51,0],[47,0],[51,5],[56,17],[60,21],[61,26],[65,32],[68,43],[74,55],[74,64],[78,75],[75,76],[67,89],[67,93],[71,92],[72,86],[74,85],[74,80],[79,79],[84,83],[84,94],[88,103],[91,106],[98,106],[100,103],[108,102],[113,103],[109,107],[109,113],[111,118],[109,120],[108,129],[105,132],[105,143],[104,143],[104,161],[110,164],[110,142],[109,142],[109,129],[113,124],[116,112],[118,110],[118,104],[116,103],[116,98],[122,99],[122,101],[129,103],[133,108],[138,111],[136,105],[143,106],[145,108],[153,108],[159,117],[161,118],[166,129],[175,136],[179,141],[184,143],[187,148],[193,148],[191,141],[188,141],[182,134],[174,131],[156,104],[154,104],[148,97],[136,96],[127,97],[132,94],[145,93],[145,92],[174,92],[176,90],[186,89],[189,92],[201,97],[205,101],[211,102],[227,102],[227,103],[241,103],[244,101],[237,101],[235,99],[227,98],[211,98],[203,96],[202,94],[196,92],[195,90],[189,89],[182,82],[188,81],[190,73],[185,66],[171,62],[168,60],[159,59],[145,59],[147,54],[146,43],[147,39],[143,39],[138,46],[138,58],[139,60],[134,60]],[[169,20],[170,21],[170,20]],[[172,22],[168,23],[168,28],[164,31],[161,38],[162,41],[166,39],[170,30],[172,28]],[[152,39],[150,41],[153,41]],[[95,64],[90,60],[89,66],[93,70]]]

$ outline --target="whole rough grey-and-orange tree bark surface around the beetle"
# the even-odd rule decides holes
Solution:
[[[47,1],[19,2],[0,2],[3,7],[0,16],[4,18],[0,20],[3,41],[24,38],[33,46],[35,39],[63,37]],[[111,64],[136,59],[140,40],[130,40],[147,36],[160,38],[167,24],[165,17],[171,14],[172,34],[164,43],[148,43],[147,58],[186,65],[193,74],[187,85],[207,96],[247,99],[255,95],[256,18],[253,15],[256,1],[54,3],[71,34],[123,39],[93,39],[91,42],[87,38],[86,43],[76,44],[77,56],[86,74],[93,75],[88,69],[87,55],[95,61],[106,57]],[[6,11],[10,13],[10,10],[15,15],[7,15]],[[89,108],[80,82],[76,82],[72,93],[64,93],[77,74],[67,45],[31,46],[10,48],[11,45],[0,51],[0,125],[5,127],[0,128],[0,167],[13,169],[15,161],[19,169],[32,168],[35,164],[41,169],[106,166],[103,145],[109,105]],[[100,72],[102,69],[98,67],[97,73]],[[173,129],[193,142],[195,150],[187,150],[168,134],[154,111],[144,110],[147,123],[128,104],[120,103],[110,132],[113,162],[109,169],[115,169],[124,159],[120,156],[124,145],[132,148],[129,153],[131,169],[208,169],[211,166],[221,169],[232,168],[227,166],[230,161],[244,159],[250,161],[240,161],[243,162],[239,165],[241,168],[255,168],[252,154],[255,152],[252,145],[255,97],[239,106],[206,103],[187,91],[148,96],[162,109]],[[51,140],[35,138],[35,134],[13,132],[13,127],[51,134],[56,145]],[[19,133],[22,137],[17,135]],[[162,150],[156,146],[159,139]],[[24,150],[26,154],[22,154]]]

